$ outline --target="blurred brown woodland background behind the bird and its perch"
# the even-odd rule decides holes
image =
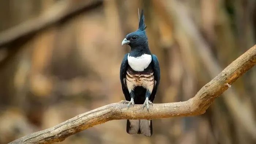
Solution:
[[[0,143],[124,100],[126,34],[144,9],[161,83],[154,103],[186,101],[256,43],[256,0],[0,0]],[[153,136],[109,121],[63,144],[256,144],[256,68],[205,114],[153,120]]]

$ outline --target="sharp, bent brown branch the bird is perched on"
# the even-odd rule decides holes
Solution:
[[[149,112],[142,105],[127,109],[122,102],[112,103],[77,115],[52,128],[21,137],[11,143],[53,143],[110,120],[157,119],[193,116],[205,113],[215,98],[222,94],[238,77],[256,64],[256,45],[227,66],[211,82],[203,86],[197,94],[185,102],[154,104]]]

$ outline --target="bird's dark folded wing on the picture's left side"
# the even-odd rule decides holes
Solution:
[[[128,91],[128,88],[127,88],[127,85],[126,85],[126,71],[127,71],[127,66],[128,66],[127,58],[128,58],[128,53],[125,54],[125,56],[123,58],[123,61],[122,61],[122,64],[121,64],[121,67],[120,67],[120,81],[121,81],[121,84],[122,84],[122,89],[123,89],[125,99],[127,101],[131,101],[131,96],[129,94],[129,91]]]

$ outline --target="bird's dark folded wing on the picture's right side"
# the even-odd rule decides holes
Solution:
[[[152,54],[152,66],[153,66],[153,70],[154,70],[155,84],[154,84],[153,91],[151,92],[151,95],[150,95],[151,102],[154,101],[155,94],[157,93],[158,84],[160,82],[159,62],[158,62],[157,56],[155,56],[154,54]]]

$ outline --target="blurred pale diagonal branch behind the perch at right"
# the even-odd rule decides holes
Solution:
[[[179,27],[176,29],[182,29],[182,31],[185,32],[185,35],[189,38],[189,41],[192,41],[194,45],[191,47],[192,51],[199,56],[204,68],[213,79],[219,72],[221,72],[221,64],[219,64],[217,58],[212,55],[210,46],[203,38],[195,21],[191,19],[189,11],[185,5],[180,1],[168,1],[168,3],[163,0],[154,1],[155,4],[160,4],[163,7],[160,9],[165,10],[163,12],[164,14],[169,14],[169,21],[167,23],[175,21],[176,26]],[[165,20],[168,20],[168,18]],[[238,92],[234,88],[223,94],[223,101],[234,122],[237,124],[242,123],[246,134],[249,134],[256,139],[256,123],[254,118],[255,114],[253,113],[254,110],[252,110],[253,108],[240,102]],[[237,110],[238,107],[240,110]]]

